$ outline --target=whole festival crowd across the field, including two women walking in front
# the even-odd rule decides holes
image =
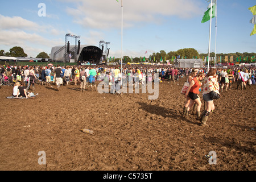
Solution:
[[[70,82],[84,90],[97,90],[96,80],[110,85],[110,93],[122,94],[123,82],[131,82],[135,88],[142,88],[151,82],[163,82],[176,84],[180,78],[187,78],[181,93],[186,98],[183,114],[189,117],[195,114],[203,126],[207,125],[208,117],[215,109],[213,100],[220,98],[220,94],[232,88],[233,82],[237,82],[235,89],[246,89],[255,85],[255,67],[229,67],[223,68],[174,68],[170,65],[75,65],[60,67],[55,66],[4,66],[0,67],[0,84],[12,85],[15,98],[34,97],[35,84],[56,85],[59,90],[61,85],[69,85]],[[155,77],[157,76],[157,77]],[[52,86],[51,86],[52,87]],[[28,92],[32,90],[32,92]],[[203,100],[207,109],[200,113],[201,99],[199,93],[203,90]],[[192,108],[193,107],[193,108]]]

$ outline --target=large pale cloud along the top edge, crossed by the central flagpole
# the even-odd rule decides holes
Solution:
[[[70,2],[69,0],[66,0]],[[75,23],[90,28],[116,28],[121,26],[121,1],[74,0],[75,8],[67,7]],[[135,23],[162,21],[162,16],[192,18],[201,15],[200,2],[196,0],[129,0],[123,1],[123,26]],[[159,16],[160,15],[160,16]]]

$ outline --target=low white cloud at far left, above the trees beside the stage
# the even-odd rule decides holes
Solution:
[[[51,25],[45,26],[23,19],[20,16],[3,16],[0,15],[0,44],[2,47],[11,48],[20,46],[31,56],[36,56],[43,49],[63,44],[62,39],[46,39],[43,34],[48,36],[60,35],[63,32],[53,28]],[[42,34],[42,35],[41,35]],[[25,49],[26,48],[26,49]],[[9,50],[5,50],[9,52]],[[40,51],[40,52],[36,52]],[[44,50],[44,52],[47,52]]]

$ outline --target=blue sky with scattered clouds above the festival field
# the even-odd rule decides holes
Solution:
[[[46,5],[46,16],[38,15],[39,3]],[[210,21],[201,23],[208,5],[205,0],[123,0],[123,56],[183,48],[208,53]],[[256,52],[248,10],[254,5],[255,0],[217,0],[217,53]],[[215,21],[210,52],[215,52]],[[5,52],[20,46],[28,56],[49,54],[52,47],[64,46],[69,33],[81,36],[81,44],[110,42],[109,56],[121,57],[121,0],[1,2],[0,49]]]

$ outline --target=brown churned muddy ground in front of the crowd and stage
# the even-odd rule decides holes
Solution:
[[[163,81],[157,100],[82,93],[74,85],[36,85],[35,98],[7,99],[13,88],[2,86],[0,170],[254,171],[256,86],[222,93],[210,127],[202,127],[182,114],[183,83]],[[39,165],[39,151],[46,165]],[[210,151],[217,164],[205,157]]]

